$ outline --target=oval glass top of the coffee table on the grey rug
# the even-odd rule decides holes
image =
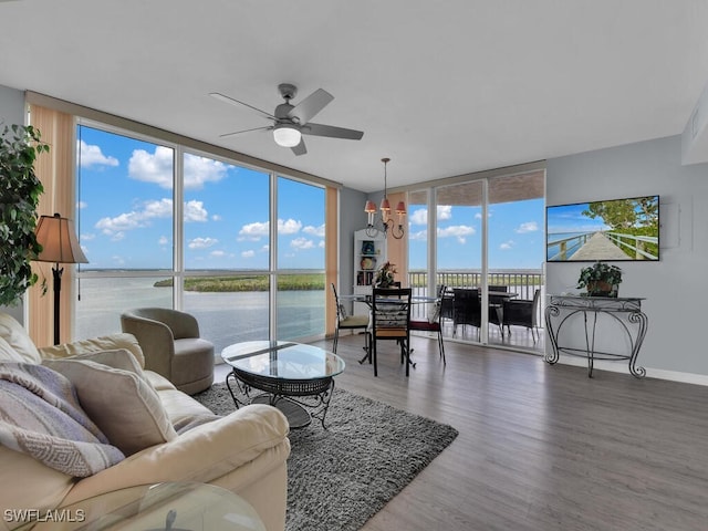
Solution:
[[[233,368],[282,379],[320,379],[344,371],[332,352],[291,341],[247,341],[227,346],[221,357]]]

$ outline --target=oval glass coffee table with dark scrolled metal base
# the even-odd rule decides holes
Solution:
[[[221,357],[232,371],[226,378],[233,403],[270,404],[280,409],[291,428],[324,418],[334,392],[334,376],[344,360],[332,352],[291,341],[247,341],[227,346]],[[251,391],[262,393],[251,397]]]

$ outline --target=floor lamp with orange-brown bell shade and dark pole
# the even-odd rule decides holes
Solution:
[[[54,344],[59,344],[59,300],[62,291],[62,273],[64,268],[60,263],[87,263],[79,239],[74,232],[74,226],[67,218],[59,214],[42,216],[37,225],[37,241],[42,246],[42,251],[37,257],[39,262],[54,262],[52,273],[54,277]]]

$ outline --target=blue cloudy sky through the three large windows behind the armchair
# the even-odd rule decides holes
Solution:
[[[83,269],[171,269],[171,148],[80,127]],[[186,155],[186,269],[269,267],[269,177]],[[279,178],[279,263],[324,269],[324,189]]]

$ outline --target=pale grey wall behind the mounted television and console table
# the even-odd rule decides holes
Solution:
[[[620,295],[646,298],[638,365],[647,376],[708,383],[708,164],[681,166],[680,136],[548,160],[548,205],[654,194],[660,261],[616,262],[624,271]],[[582,266],[549,263],[548,292],[574,288]]]

